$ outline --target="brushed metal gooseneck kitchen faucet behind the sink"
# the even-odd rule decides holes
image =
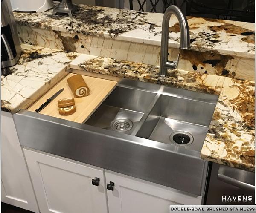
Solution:
[[[169,21],[172,14],[176,15],[180,24],[180,49],[189,49],[190,47],[189,25],[186,17],[177,6],[171,5],[163,15],[159,71],[159,75],[162,77],[167,75],[167,69],[176,69],[180,58],[180,54],[178,54],[177,60],[168,61]]]

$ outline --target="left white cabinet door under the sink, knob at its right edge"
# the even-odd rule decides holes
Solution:
[[[41,213],[108,212],[103,169],[30,149],[24,154]]]

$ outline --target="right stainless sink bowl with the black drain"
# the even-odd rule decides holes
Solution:
[[[136,136],[200,152],[217,99],[189,93],[187,97],[160,95]]]

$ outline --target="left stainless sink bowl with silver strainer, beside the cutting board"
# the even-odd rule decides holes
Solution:
[[[117,86],[85,124],[131,134],[156,93]]]

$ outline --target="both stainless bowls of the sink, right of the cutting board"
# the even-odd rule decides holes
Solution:
[[[85,124],[200,152],[217,95],[122,80]]]

